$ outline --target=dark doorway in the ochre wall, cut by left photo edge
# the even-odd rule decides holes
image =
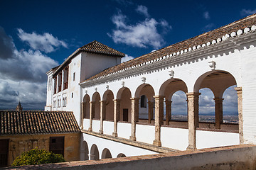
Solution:
[[[8,165],[9,140],[0,140],[0,167]]]

